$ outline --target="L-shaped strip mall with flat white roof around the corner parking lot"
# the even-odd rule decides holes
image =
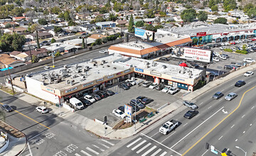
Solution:
[[[53,103],[63,103],[73,96],[91,94],[132,77],[193,91],[202,79],[202,72],[151,60],[108,55],[33,73],[26,77],[26,85],[29,94]]]

